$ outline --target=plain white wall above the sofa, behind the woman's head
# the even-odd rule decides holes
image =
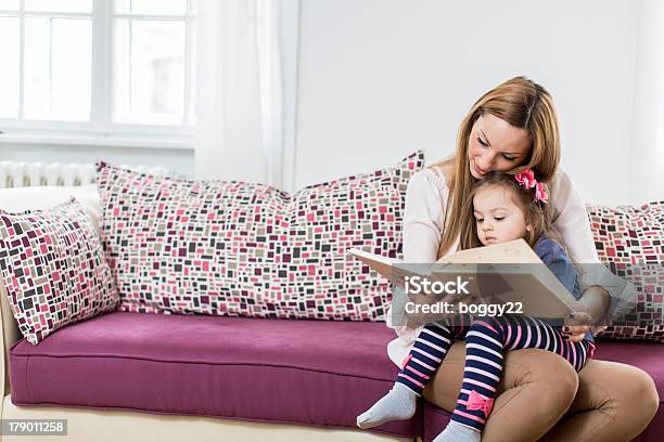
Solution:
[[[526,75],[553,95],[584,199],[628,202],[639,6],[302,0],[295,186],[449,155],[471,104]]]

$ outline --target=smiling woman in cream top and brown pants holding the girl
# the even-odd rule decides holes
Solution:
[[[461,222],[455,213],[461,213],[476,180],[490,171],[516,173],[531,168],[550,183],[553,225],[572,258],[599,263],[585,206],[559,162],[558,118],[549,93],[523,77],[490,90],[463,119],[455,156],[412,177],[404,216],[405,261],[433,262],[457,249]],[[599,286],[591,272],[582,275],[582,285],[593,317],[601,317],[608,308],[613,314],[615,287]],[[394,328],[399,337],[387,350],[400,365],[419,329]],[[570,339],[580,340],[587,330],[570,327]],[[451,412],[463,366],[464,342],[458,342],[424,398]],[[562,358],[541,350],[506,352],[497,394],[483,442],[629,441],[648,426],[659,406],[654,382],[636,367],[590,360],[577,374]]]

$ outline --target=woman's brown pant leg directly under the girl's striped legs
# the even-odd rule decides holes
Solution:
[[[482,442],[536,441],[570,408],[578,376],[567,361],[545,350],[503,354],[502,379]],[[465,342],[456,342],[424,389],[424,399],[451,413],[463,380],[464,360]]]

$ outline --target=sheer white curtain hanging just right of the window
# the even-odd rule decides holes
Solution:
[[[281,1],[199,2],[196,178],[282,186]]]

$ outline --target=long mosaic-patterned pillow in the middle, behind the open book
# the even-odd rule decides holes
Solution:
[[[289,194],[101,162],[101,236],[120,310],[381,321],[390,283],[347,249],[400,256],[406,187],[423,165],[418,152]]]

